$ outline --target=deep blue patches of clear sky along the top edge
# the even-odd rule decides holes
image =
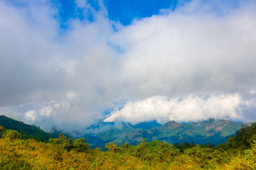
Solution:
[[[61,24],[66,22],[69,18],[80,18],[81,20],[89,19],[93,21],[92,15],[85,18],[81,9],[77,9],[74,0],[59,0],[55,1],[59,4],[59,15],[61,17]],[[97,0],[88,0],[88,4],[95,10],[99,11],[101,8]],[[151,17],[159,14],[161,9],[175,9],[177,0],[104,0],[104,7],[108,11],[108,18],[112,21],[119,21],[123,25],[131,24],[135,18]]]

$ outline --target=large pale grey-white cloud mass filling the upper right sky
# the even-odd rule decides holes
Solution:
[[[256,18],[248,11],[223,17],[178,11],[121,30],[116,38],[125,51],[122,73],[132,92],[147,97],[236,92],[255,85]]]

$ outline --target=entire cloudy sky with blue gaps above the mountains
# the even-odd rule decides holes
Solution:
[[[0,0],[0,115],[48,132],[256,121],[255,9],[255,0]]]

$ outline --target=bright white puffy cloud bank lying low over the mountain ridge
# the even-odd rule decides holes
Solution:
[[[188,95],[167,99],[163,96],[149,97],[144,100],[127,102],[124,108],[112,111],[105,122],[130,122],[138,124],[157,120],[190,122],[218,119],[241,119],[241,99],[239,95],[211,95],[209,97]]]

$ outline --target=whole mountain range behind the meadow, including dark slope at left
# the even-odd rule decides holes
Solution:
[[[184,141],[195,144],[219,144],[225,143],[229,137],[236,134],[242,125],[250,125],[252,122],[239,123],[230,120],[208,119],[191,124],[179,124],[169,121],[166,124],[158,124],[156,121],[139,123],[132,125],[122,123],[121,126],[112,126],[110,130],[102,131],[97,134],[84,134],[84,137],[91,148],[104,147],[107,143],[128,143],[135,145],[141,140],[148,142],[161,140],[173,144]],[[58,137],[61,130],[54,129],[53,133],[47,133],[34,125],[24,124],[6,116],[0,115],[0,126],[5,129],[18,130],[24,139],[35,138],[38,141],[47,141],[49,137]],[[2,132],[1,132],[2,133]],[[65,136],[72,137],[71,134],[63,133]],[[1,135],[1,134],[0,134]]]

